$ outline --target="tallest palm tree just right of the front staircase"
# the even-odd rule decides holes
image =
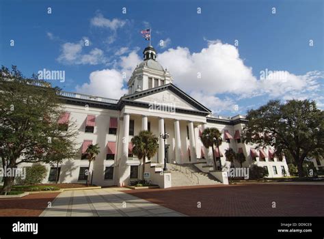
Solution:
[[[218,149],[218,154],[220,154],[219,152],[219,145],[221,145],[221,132],[219,132],[219,130],[217,128],[206,128],[204,130],[204,132],[202,132],[202,144],[204,145],[204,147],[206,147],[207,149],[209,147],[212,147],[213,150],[213,163],[214,163],[214,169],[217,170],[216,167],[216,158],[215,158],[215,150],[214,150],[214,145],[216,145],[217,149]],[[219,165],[221,165],[221,158],[220,155],[218,155],[218,159],[219,159]]]

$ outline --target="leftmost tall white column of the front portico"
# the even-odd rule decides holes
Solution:
[[[120,157],[118,186],[129,184],[131,167],[126,164],[129,158],[129,114],[124,114],[123,135],[122,135],[122,156]]]

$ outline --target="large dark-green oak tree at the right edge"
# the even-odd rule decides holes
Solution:
[[[324,155],[324,112],[310,100],[271,100],[247,113],[243,130],[246,143],[257,147],[273,146],[275,154],[291,154],[299,177],[304,176],[303,161]]]

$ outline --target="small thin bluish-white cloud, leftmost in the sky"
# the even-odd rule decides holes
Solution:
[[[57,57],[57,61],[62,64],[71,65],[96,65],[105,63],[105,56],[99,48],[93,48],[89,53],[82,53],[85,47],[85,40],[83,38],[77,43],[66,42],[62,44],[61,55]]]

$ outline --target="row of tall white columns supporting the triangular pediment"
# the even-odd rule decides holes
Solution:
[[[130,167],[126,165],[126,161],[129,155],[129,120],[130,115],[128,113],[124,113],[123,120],[123,135],[122,135],[122,156],[120,158],[119,163],[119,173],[120,173],[120,186],[123,186],[123,182],[129,177]],[[189,127],[189,142],[190,142],[190,156],[191,161],[195,162],[197,159],[196,154],[196,144],[195,144],[195,132],[193,128],[193,122],[188,123]],[[203,125],[203,130],[206,127],[206,124]],[[141,130],[148,130],[148,116],[142,115],[141,118]],[[165,132],[164,128],[164,119],[159,117],[159,133]],[[165,148],[164,148],[164,140],[159,137],[159,163],[164,164],[165,159]],[[178,119],[174,121],[174,138],[175,138],[175,153],[176,153],[176,163],[181,162],[181,139],[180,139],[180,122]],[[207,155],[205,149],[205,155]]]

